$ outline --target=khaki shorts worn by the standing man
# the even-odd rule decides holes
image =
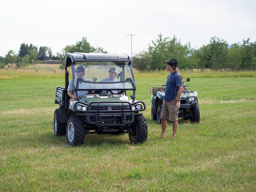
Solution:
[[[177,104],[175,104],[175,100],[171,102],[163,101],[161,119],[170,119],[170,121],[176,121],[178,119],[178,110],[180,106],[180,101],[177,101]]]

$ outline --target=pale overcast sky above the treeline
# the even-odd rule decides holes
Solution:
[[[108,53],[132,55],[159,34],[195,49],[214,36],[229,44],[256,42],[255,0],[2,0],[0,7],[2,57],[18,54],[23,42],[57,54],[83,37]]]

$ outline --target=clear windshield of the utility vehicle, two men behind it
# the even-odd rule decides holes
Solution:
[[[70,70],[73,78],[70,83],[74,90],[80,90],[78,97],[89,91],[121,94],[125,90],[135,90],[132,67],[128,62],[79,62]]]

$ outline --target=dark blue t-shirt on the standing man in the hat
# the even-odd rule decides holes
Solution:
[[[171,102],[176,98],[178,86],[183,86],[182,75],[175,71],[167,77],[165,102]]]

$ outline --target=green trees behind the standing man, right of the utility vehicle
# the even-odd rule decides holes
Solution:
[[[147,51],[135,55],[134,68],[140,71],[166,70],[164,61],[171,58],[178,60],[181,70],[256,70],[256,42],[250,42],[248,38],[242,44],[229,45],[214,37],[210,38],[208,45],[195,50],[190,43],[182,46],[175,36],[163,38],[160,34]]]

